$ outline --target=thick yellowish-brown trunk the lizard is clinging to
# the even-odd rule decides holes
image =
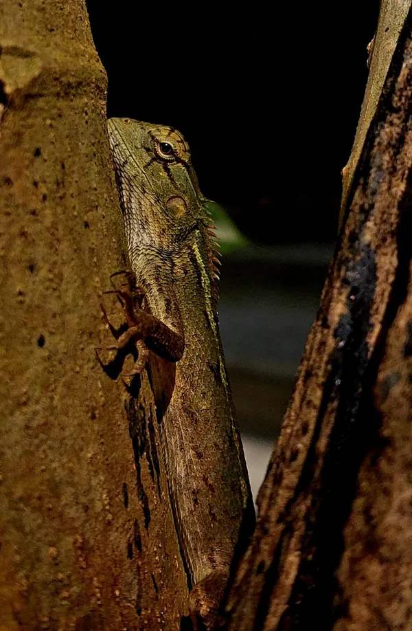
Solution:
[[[187,613],[148,377],[130,397],[95,356],[126,265],[105,100],[82,0],[3,0],[4,631],[169,630]]]

